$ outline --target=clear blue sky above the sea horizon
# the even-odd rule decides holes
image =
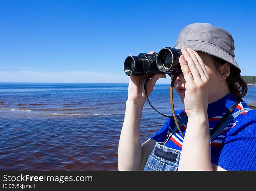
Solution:
[[[255,76],[255,10],[255,1],[1,0],[0,82],[128,83],[129,54],[173,47],[194,22],[229,31],[241,75]]]

